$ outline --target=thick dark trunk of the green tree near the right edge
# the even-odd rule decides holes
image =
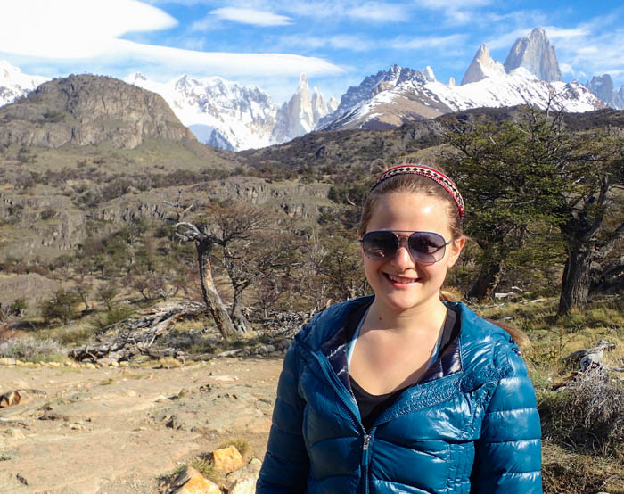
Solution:
[[[562,292],[557,310],[559,316],[569,314],[572,308],[580,308],[587,304],[591,286],[591,262],[591,248],[587,243],[585,248],[575,249],[568,254],[563,269]]]

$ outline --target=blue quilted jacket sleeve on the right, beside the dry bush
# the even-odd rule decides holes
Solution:
[[[505,351],[507,373],[497,383],[475,444],[472,490],[477,493],[542,492],[541,428],[535,391],[523,360]]]

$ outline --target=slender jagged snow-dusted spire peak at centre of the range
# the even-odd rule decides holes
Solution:
[[[305,74],[301,74],[297,91],[290,101],[283,103],[277,111],[277,122],[271,141],[280,144],[308,134],[316,128],[320,119],[335,111],[337,106],[338,102],[333,97],[329,102],[325,102],[324,96],[316,87],[310,97],[308,78]]]

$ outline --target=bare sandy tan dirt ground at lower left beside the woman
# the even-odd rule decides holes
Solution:
[[[282,358],[173,369],[0,366],[0,492],[156,492],[224,440],[262,458]]]

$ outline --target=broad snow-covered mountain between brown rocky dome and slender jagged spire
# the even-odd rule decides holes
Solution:
[[[229,151],[271,144],[277,107],[257,86],[189,76],[161,84],[140,73],[125,80],[165,98],[177,118],[202,143]]]

